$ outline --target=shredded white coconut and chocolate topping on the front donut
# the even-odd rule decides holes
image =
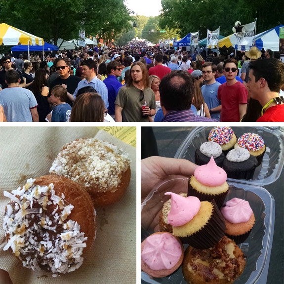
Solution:
[[[9,240],[3,250],[11,247],[25,267],[44,269],[56,277],[81,266],[87,238],[77,222],[67,221],[74,206],[55,195],[52,183],[41,187],[34,181],[29,179],[12,193],[4,191],[11,201],[4,215],[3,229]]]

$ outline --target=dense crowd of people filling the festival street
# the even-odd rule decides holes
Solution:
[[[284,63],[255,46],[190,54],[132,41],[0,65],[0,122],[284,122]]]

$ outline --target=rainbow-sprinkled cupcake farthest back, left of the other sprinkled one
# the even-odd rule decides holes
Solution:
[[[230,126],[216,126],[212,128],[207,137],[208,141],[218,143],[226,155],[234,148],[237,136]]]

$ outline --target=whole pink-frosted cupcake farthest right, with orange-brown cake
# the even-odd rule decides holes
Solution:
[[[249,203],[243,199],[233,198],[221,208],[225,218],[225,234],[236,243],[243,243],[255,223],[255,217]]]

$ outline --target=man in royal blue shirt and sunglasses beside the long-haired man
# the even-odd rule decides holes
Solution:
[[[108,77],[103,81],[108,88],[108,101],[109,108],[108,114],[115,118],[116,97],[118,89],[122,86],[122,83],[118,81],[118,77],[122,75],[122,64],[119,61],[111,61],[107,65]]]

